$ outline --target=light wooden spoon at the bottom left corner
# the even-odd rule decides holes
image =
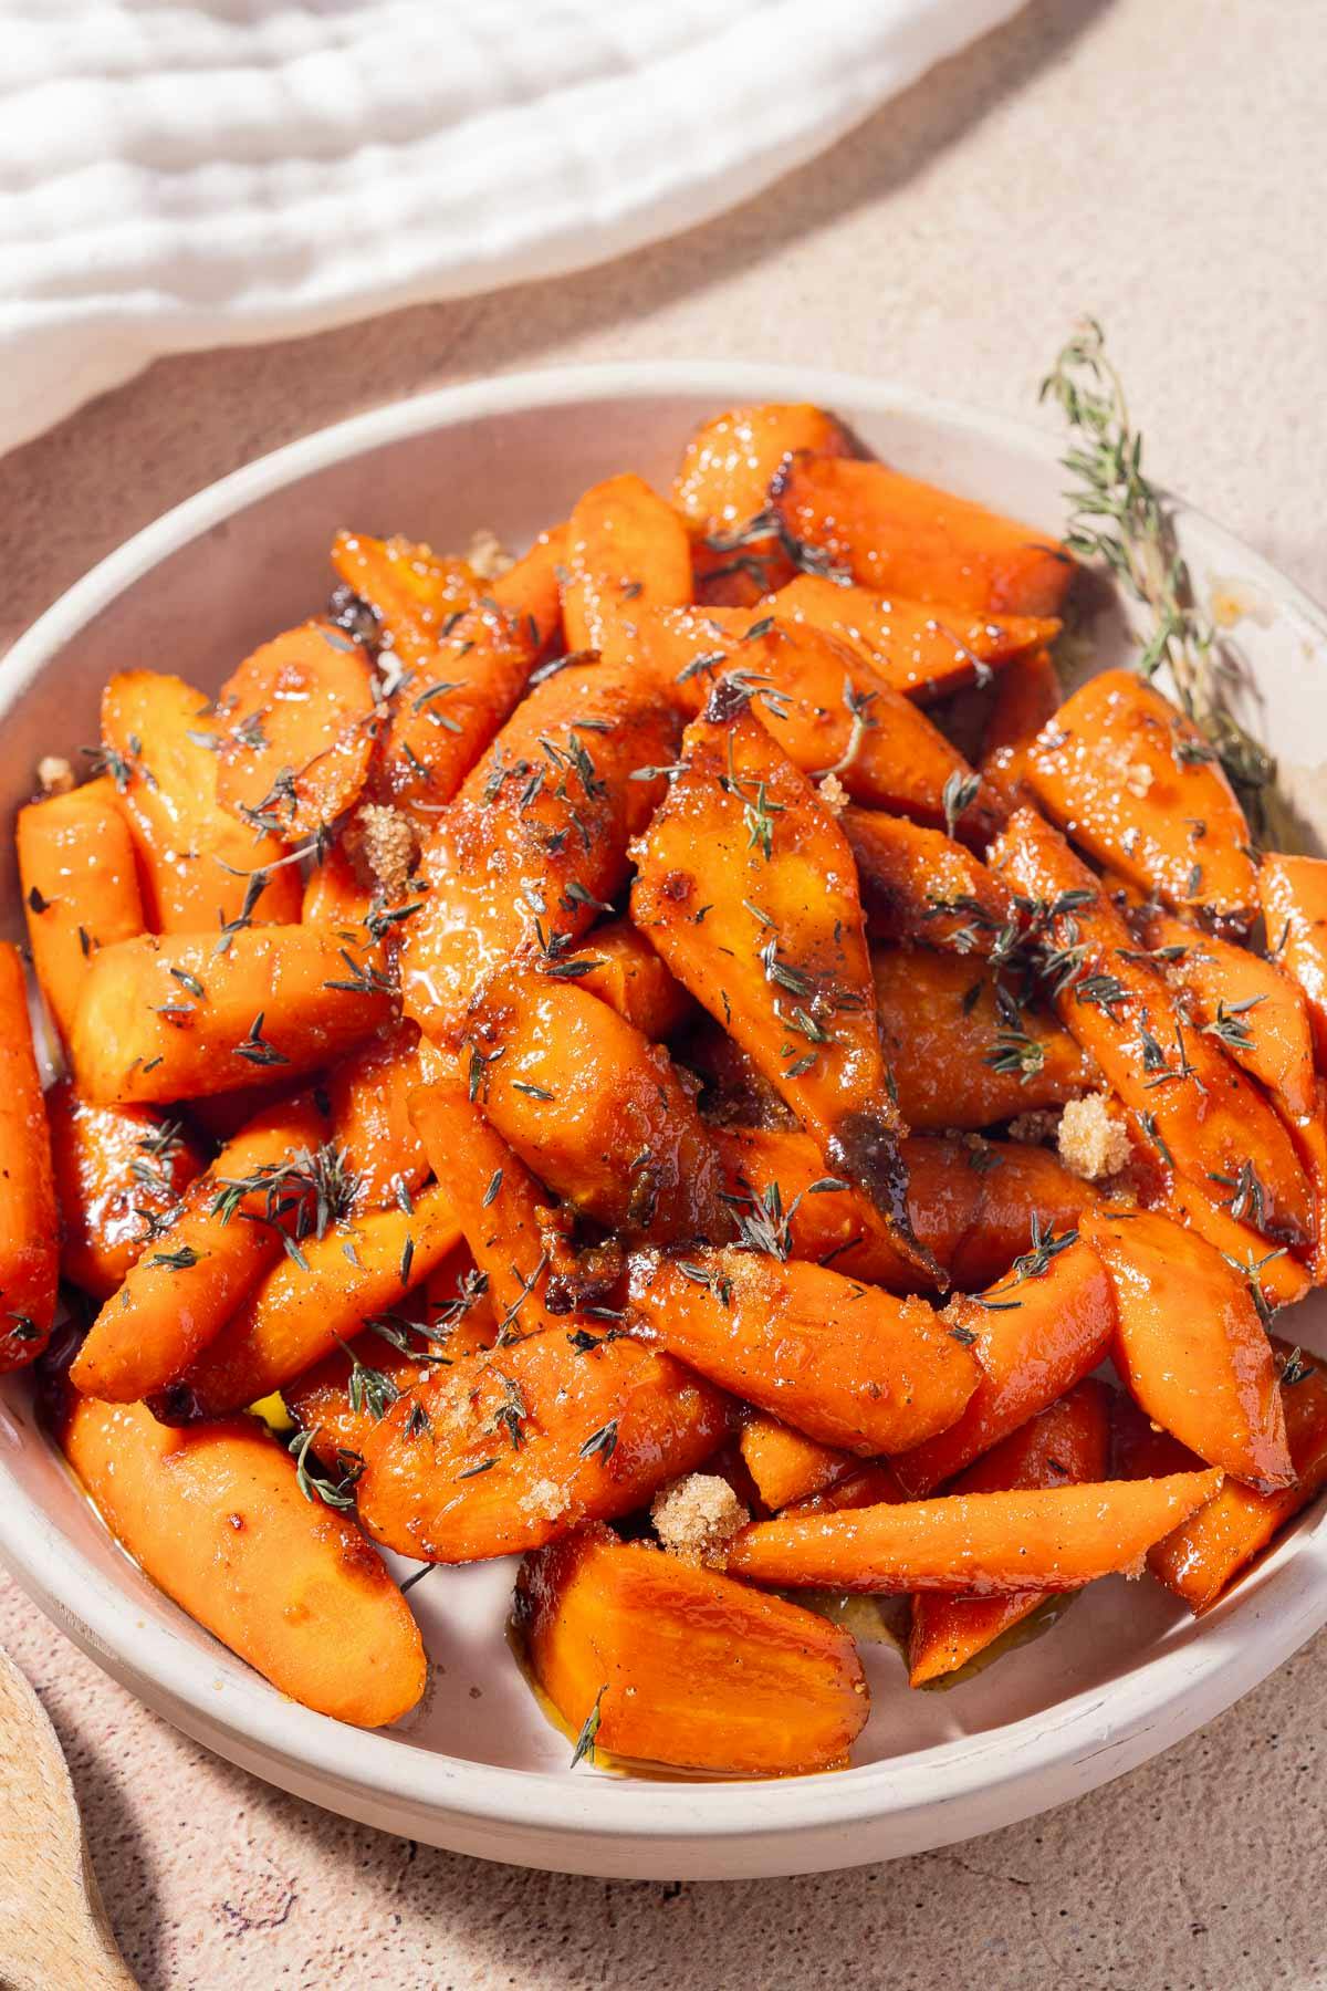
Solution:
[[[60,1738],[0,1653],[0,1985],[133,1991],[97,1893]]]

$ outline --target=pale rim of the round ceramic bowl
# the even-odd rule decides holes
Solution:
[[[666,360],[525,370],[392,402],[284,444],[177,504],[107,553],[10,649],[0,677],[0,715],[32,689],[58,651],[115,595],[219,522],[286,484],[332,464],[418,440],[470,420],[557,408],[577,400],[651,400],[696,394],[716,406],[742,400],[814,400],[871,414],[905,414],[987,440],[1003,450],[1056,460],[1056,440],[1009,416],[975,410],[863,374],[764,362]],[[1178,500],[1176,500],[1178,502]],[[1180,504],[1180,502],[1178,502]],[[1180,510],[1237,552],[1241,571],[1261,581],[1327,645],[1327,615],[1263,555],[1198,508]],[[2,1436],[2,1426],[0,1426]],[[1259,1569],[1204,1621],[1184,1625],[1158,1653],[1114,1682],[1086,1688],[1054,1708],[985,1734],[959,1736],[903,1756],[762,1782],[651,1782],[515,1770],[410,1746],[408,1736],[370,1734],[314,1714],[233,1659],[233,1676],[209,1666],[181,1631],[149,1625],[135,1601],[56,1527],[18,1485],[0,1453],[0,1563],[34,1601],[103,1664],[147,1682],[203,1730],[223,1730],[275,1762],[336,1780],[372,1802],[396,1802],[436,1818],[599,1840],[635,1842],[778,1840],[816,1830],[844,1832],[887,1814],[955,1812],[983,1798],[999,1816],[1029,1816],[1078,1796],[1190,1734],[1265,1678],[1327,1623],[1327,1521],[1319,1513],[1285,1537]],[[1052,1794],[1039,1790],[1072,1766]],[[963,1828],[949,1836],[957,1838]],[[935,1844],[935,1836],[921,1838]],[[853,1850],[846,1848],[852,1860]],[[863,1850],[859,1858],[879,1858]],[[786,1872],[786,1870],[784,1870]]]

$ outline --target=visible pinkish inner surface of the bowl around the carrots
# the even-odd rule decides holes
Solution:
[[[294,476],[283,462],[290,452],[283,452],[205,494],[183,518],[151,528],[115,555],[109,571],[82,583],[0,675],[6,739],[0,814],[12,820],[40,755],[78,757],[95,741],[99,691],[111,671],[129,665],[179,671],[215,691],[251,647],[316,611],[330,587],[326,555],[340,526],[404,532],[436,548],[464,548],[475,526],[491,526],[521,546],[565,516],[597,478],[635,468],[666,486],[696,420],[742,392],[770,392],[768,382],[744,386],[738,378],[734,386],[732,368],[712,372],[708,386],[653,390],[613,380],[589,390],[567,376],[525,388],[499,382],[503,392],[489,394],[487,410],[474,394],[452,396],[446,408],[390,410],[378,422],[380,440],[356,446],[366,436],[366,424],[356,424],[348,440],[328,438],[324,460]],[[820,398],[814,378],[800,386]],[[786,394],[788,382],[774,388],[780,390]],[[861,438],[901,468],[985,498],[1041,530],[1062,526],[1064,476],[1037,438],[879,390],[848,404],[840,394],[838,402]],[[1323,651],[1321,621],[1303,597],[1210,522],[1184,514],[1182,536],[1200,589],[1243,589],[1245,617],[1235,637],[1255,677],[1261,731],[1289,763],[1301,808],[1319,814],[1317,771],[1303,759],[1305,741],[1321,735],[1327,705],[1321,679],[1309,669],[1313,651]],[[1118,603],[1102,601],[1092,645],[1094,663],[1122,659]],[[1319,826],[1327,826],[1327,810]],[[8,924],[16,926],[8,836],[0,838],[0,892]],[[1321,1348],[1325,1326],[1327,1306],[1315,1298],[1297,1310],[1293,1332]],[[245,1706],[261,1700],[281,1706],[273,1688],[193,1627],[107,1541],[36,1432],[22,1380],[0,1384],[0,1485],[6,1475],[44,1515],[22,1535],[10,1523],[6,1555],[30,1575],[56,1553],[72,1555],[78,1575],[68,1577],[64,1601],[74,1611],[80,1607],[70,1601],[70,1585],[113,1591],[125,1611],[115,1621],[119,1631],[101,1635],[111,1657],[133,1670],[137,1660],[125,1645],[137,1641],[149,1668],[153,1641],[165,1639],[177,1651],[183,1641],[201,1678],[241,1690]],[[1048,1716],[1068,1696],[1118,1692],[1176,1649],[1202,1649],[1206,1662],[1220,1664],[1222,1651],[1251,1633],[1267,1585],[1317,1525],[1317,1513],[1309,1511],[1202,1627],[1158,1587],[1112,1579],[1076,1599],[1046,1637],[951,1690],[909,1692],[895,1647],[887,1639],[865,1647],[873,1716],[855,1762],[899,1764],[955,1738],[993,1738],[1011,1722]],[[412,1603],[436,1660],[434,1684],[428,1702],[400,1730],[364,1748],[432,1756],[440,1774],[444,1758],[458,1758],[565,1776],[567,1740],[539,1712],[507,1649],[511,1577],[511,1565],[434,1571],[414,1589]],[[865,1774],[852,1770],[848,1782]],[[659,1796],[666,1802],[664,1786]]]

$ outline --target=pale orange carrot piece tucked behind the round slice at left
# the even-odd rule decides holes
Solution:
[[[298,920],[300,880],[281,864],[284,846],[255,838],[217,800],[221,739],[201,691],[155,671],[117,673],[101,693],[101,743],[153,932]]]

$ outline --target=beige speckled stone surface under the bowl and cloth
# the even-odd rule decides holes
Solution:
[[[1327,595],[1325,102],[1321,0],[1041,0],[678,241],[565,283],[169,360],[86,408],[0,462],[0,641],[165,506],[416,388],[732,354],[1027,414],[1084,309],[1106,321],[1156,474]],[[149,1987],[1327,1983],[1327,1639],[1188,1744],[1035,1824],[722,1887],[416,1850],[207,1758],[12,1589],[0,1641],[66,1740]]]

